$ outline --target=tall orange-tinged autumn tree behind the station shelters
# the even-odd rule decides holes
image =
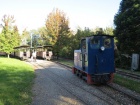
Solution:
[[[64,12],[54,9],[46,20],[47,35],[50,37],[57,58],[70,37],[69,20]]]

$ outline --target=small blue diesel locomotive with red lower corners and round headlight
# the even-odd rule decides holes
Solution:
[[[80,45],[79,50],[74,50],[72,72],[88,84],[112,82],[115,72],[114,37],[93,35],[83,38]]]

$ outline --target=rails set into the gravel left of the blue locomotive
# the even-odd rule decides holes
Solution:
[[[46,67],[44,67],[44,65],[41,65],[41,64],[33,64],[36,68],[37,68],[37,65],[39,65],[40,67],[46,69]],[[100,94],[96,94],[96,92],[94,93],[94,91],[91,91],[91,90],[86,90],[85,88],[82,88],[82,86],[80,85],[77,85],[75,83],[73,83],[72,81],[62,77],[61,75],[58,75],[50,70],[48,70],[49,72],[51,72],[51,74],[55,75],[55,77],[57,78],[62,78],[63,80],[67,81],[68,83],[70,83],[71,85],[74,85],[76,88],[79,88],[79,89],[82,89],[83,91],[87,92],[88,94],[90,94],[91,96],[96,96],[98,99],[101,99],[103,101],[105,101],[107,104],[109,105],[114,105],[114,103],[116,105],[119,105],[120,103],[119,102],[116,102],[114,101],[115,99],[110,99],[110,97],[105,97],[105,96],[100,96]],[[92,105],[90,102],[88,102],[88,100],[85,100],[84,98],[81,99],[81,96],[79,95],[75,95],[75,93],[73,93],[72,91],[70,91],[69,89],[63,87],[63,84],[61,84],[60,82],[58,83],[56,80],[53,80],[55,83],[57,83],[60,87],[64,88],[65,90],[67,90],[69,93],[72,93],[74,96],[76,96],[78,99],[80,99],[82,102],[85,103],[85,105]]]

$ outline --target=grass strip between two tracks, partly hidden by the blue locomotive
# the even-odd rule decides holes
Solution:
[[[55,60],[55,61],[61,62],[63,64],[68,64],[71,67],[74,66],[72,60]],[[128,70],[125,70],[125,71],[128,71]],[[140,72],[138,71],[133,72],[133,73],[140,74]],[[134,81],[132,79],[128,79],[118,74],[115,74],[113,82],[117,83],[118,85],[124,86],[132,91],[140,93],[140,82],[138,81]]]

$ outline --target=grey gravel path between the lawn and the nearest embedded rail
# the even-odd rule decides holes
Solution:
[[[48,75],[47,70],[39,67],[35,73],[32,105],[85,105],[56,84]]]

